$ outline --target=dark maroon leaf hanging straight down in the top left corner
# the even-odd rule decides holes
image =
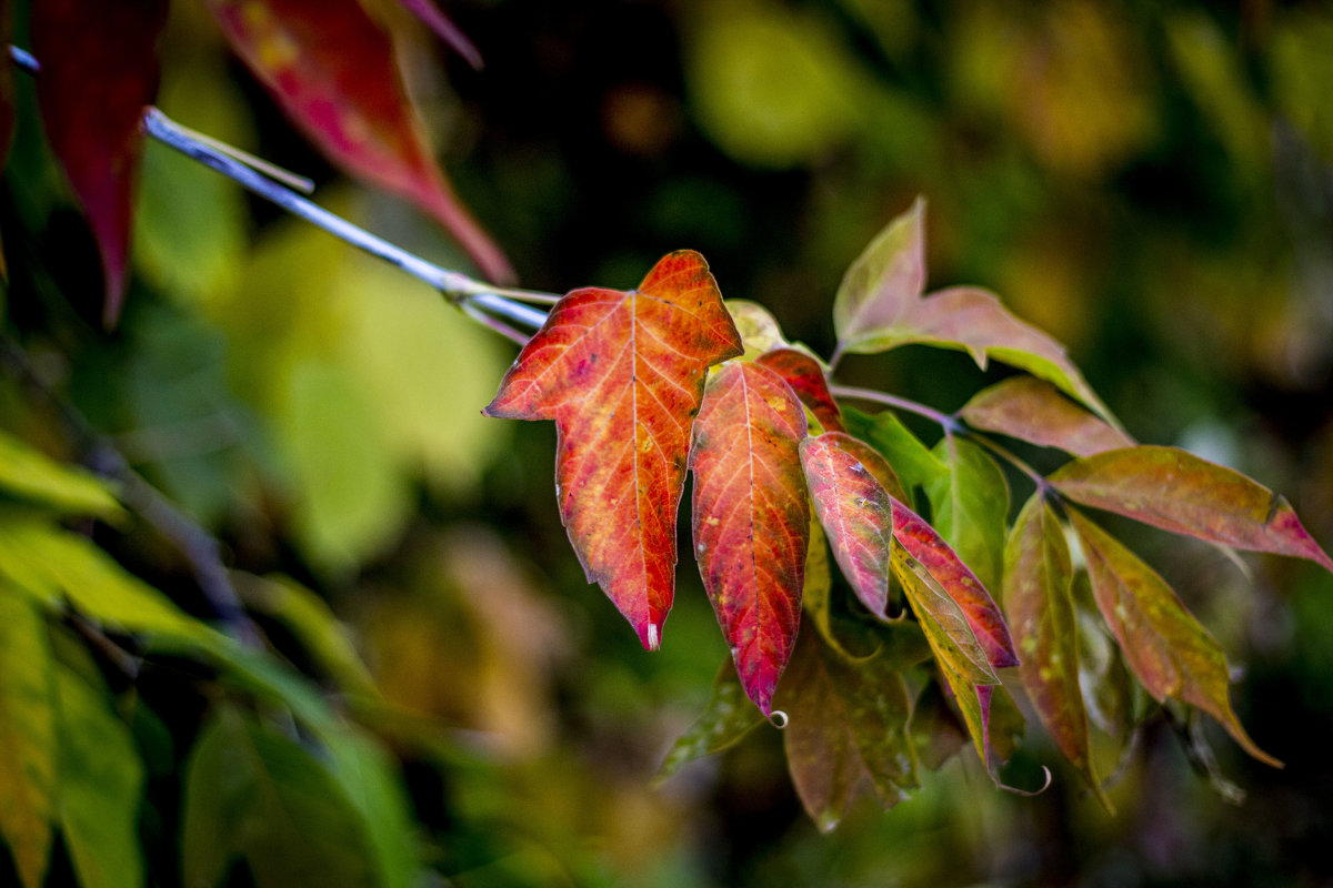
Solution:
[[[97,240],[107,326],[116,324],[125,296],[140,120],[157,92],[156,44],[165,21],[167,0],[32,4],[41,121]]]

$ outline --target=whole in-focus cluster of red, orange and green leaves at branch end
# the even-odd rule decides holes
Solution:
[[[564,297],[487,407],[555,419],[571,542],[589,582],[649,650],[672,606],[676,513],[693,471],[694,556],[734,672],[724,668],[712,708],[666,771],[754,724],[728,690],[738,682],[764,716],[789,722],[796,787],[832,827],[862,783],[892,805],[916,785],[918,763],[936,766],[957,748],[948,710],[932,703],[940,698],[961,714],[994,777],[993,756],[1004,758],[1021,730],[1001,682],[1002,670],[1018,667],[1056,746],[1101,796],[1085,694],[1120,656],[1157,702],[1208,712],[1250,755],[1278,764],[1232,711],[1220,646],[1081,507],[1329,570],[1333,560],[1290,505],[1258,483],[1182,450],[1136,445],[1064,349],[993,294],[924,288],[917,201],[846,273],[833,305],[833,362],[926,343],[1028,373],[978,393],[957,415],[842,389],[762,309],[729,312],[702,257],[686,250],[663,258],[636,290]],[[926,449],[892,411],[844,417],[834,395],[934,417],[944,438]],[[1074,459],[1041,477],[978,433]],[[1036,485],[1012,525],[996,455]],[[933,526],[914,511],[918,489]],[[1082,553],[1077,575],[1070,530]],[[852,611],[830,596],[825,539],[858,602]],[[1076,595],[1080,582],[1090,584],[1101,624]],[[1002,594],[1004,612],[988,590]],[[798,634],[802,610],[814,628]],[[1100,663],[1081,655],[1089,634],[1109,634],[1120,654]],[[922,672],[928,660],[933,670]],[[1092,670],[1101,675],[1086,680]]]

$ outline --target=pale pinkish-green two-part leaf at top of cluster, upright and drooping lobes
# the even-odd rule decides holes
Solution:
[[[908,343],[961,349],[982,370],[990,358],[1049,379],[1098,415],[1113,417],[1064,346],[1010,314],[993,293],[925,290],[925,201],[917,198],[852,262],[833,300],[837,350],[870,354]]]

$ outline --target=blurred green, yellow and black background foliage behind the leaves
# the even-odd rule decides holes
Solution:
[[[388,240],[469,268],[416,210],[335,174],[212,21],[173,5],[168,114],[312,176],[319,202]],[[996,290],[1069,346],[1133,435],[1250,474],[1333,546],[1333,5],[445,11],[485,68],[411,32],[404,69],[444,169],[524,286],[629,288],[690,248],[724,297],[762,302],[828,355],[842,270],[924,194],[928,289]],[[1268,558],[1246,558],[1246,578],[1146,531],[1134,549],[1241,667],[1237,712],[1286,763],[1269,770],[1210,732],[1244,803],[1192,770],[1160,719],[1112,789],[1113,817],[1036,723],[1021,755],[1029,772],[1054,771],[1046,793],[997,792],[969,751],[910,801],[888,813],[866,801],[830,835],[801,812],[766,727],[655,785],[725,646],[689,560],[652,655],[585,584],[556,511],[553,429],[480,415],[515,346],[155,144],[125,316],[103,333],[95,248],[31,92],[20,84],[0,202],[7,333],[217,534],[296,666],[349,680],[265,619],[277,580],[247,592],[247,576],[315,590],[364,659],[364,676],[347,666],[356,680],[441,726],[435,752],[397,752],[417,837],[449,884],[1333,884],[1333,578]],[[914,346],[840,367],[945,410],[1001,373]],[[0,418],[67,446],[11,379]],[[187,607],[197,596],[151,541],[107,545]],[[175,714],[183,755],[196,730],[184,691],[145,694]],[[171,767],[151,779],[159,816],[179,792]],[[155,853],[169,872],[173,852]]]

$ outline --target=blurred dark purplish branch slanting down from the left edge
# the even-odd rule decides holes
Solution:
[[[185,556],[199,591],[224,631],[247,644],[256,643],[259,632],[236,595],[217,539],[136,473],[120,450],[93,429],[83,413],[47,385],[23,347],[8,335],[0,337],[0,365],[55,407],[69,434],[79,442],[80,450],[87,454],[89,467],[115,479],[120,485],[120,501]]]

